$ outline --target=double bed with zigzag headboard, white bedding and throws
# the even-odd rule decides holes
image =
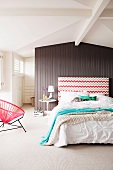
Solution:
[[[113,143],[113,99],[109,78],[59,77],[58,105],[41,145]]]

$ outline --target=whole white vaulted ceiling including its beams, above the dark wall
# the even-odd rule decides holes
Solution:
[[[0,0],[0,51],[72,41],[113,48],[113,0]]]

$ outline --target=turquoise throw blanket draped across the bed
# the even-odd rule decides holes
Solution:
[[[75,108],[69,108],[69,109],[63,109],[63,110],[60,110],[57,112],[56,116],[54,117],[54,120],[51,124],[51,127],[47,133],[47,135],[45,137],[42,137],[42,141],[40,142],[40,145],[44,145],[45,143],[48,142],[49,140],[49,137],[52,133],[52,130],[54,128],[54,125],[55,125],[55,122],[56,122],[56,119],[59,115],[64,115],[64,114],[77,114],[77,113],[80,113],[80,112],[98,112],[98,111],[102,111],[102,110],[106,110],[106,111],[111,111],[113,112],[113,108],[96,108],[96,109],[91,109],[91,108],[83,108],[83,109],[75,109]]]

